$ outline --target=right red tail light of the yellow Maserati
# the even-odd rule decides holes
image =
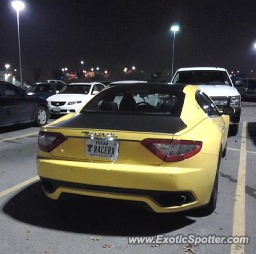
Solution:
[[[140,143],[163,161],[180,161],[196,155],[202,148],[201,141],[178,139],[144,139]]]

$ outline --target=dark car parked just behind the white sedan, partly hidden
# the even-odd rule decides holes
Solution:
[[[61,83],[37,83],[26,90],[26,93],[30,96],[47,99],[49,96],[58,94],[64,87]]]

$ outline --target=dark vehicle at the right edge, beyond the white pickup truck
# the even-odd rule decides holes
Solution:
[[[256,79],[244,78],[236,80],[235,87],[244,99],[256,99]]]

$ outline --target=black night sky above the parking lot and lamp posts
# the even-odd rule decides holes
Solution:
[[[68,67],[104,69],[136,66],[171,69],[172,33],[175,66],[255,67],[256,1],[24,0],[20,13],[22,64],[45,72]],[[19,69],[16,12],[1,0],[0,70]],[[12,69],[11,68],[11,69]]]

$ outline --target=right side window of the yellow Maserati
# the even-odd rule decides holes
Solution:
[[[219,115],[219,111],[210,98],[203,92],[196,92],[196,101],[208,116]]]

